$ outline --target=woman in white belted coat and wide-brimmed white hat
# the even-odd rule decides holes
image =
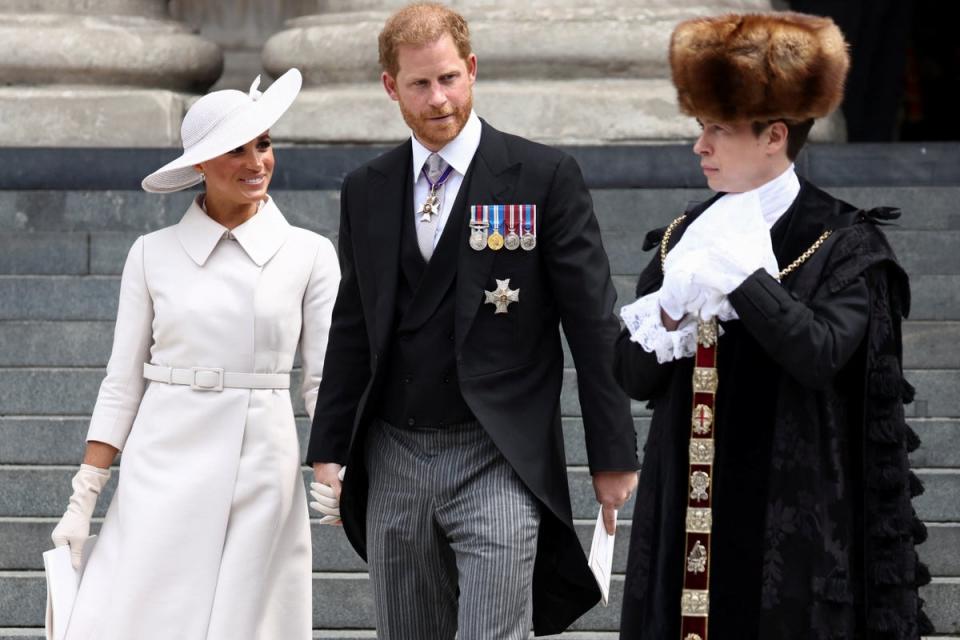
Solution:
[[[70,505],[53,532],[79,565],[97,495],[120,481],[89,554],[69,640],[306,640],[307,502],[290,393],[300,343],[312,413],[340,272],[329,240],[267,195],[269,128],[300,89],[217,91],[183,155],[143,188],[205,180],[176,225],[130,249],[113,351]]]

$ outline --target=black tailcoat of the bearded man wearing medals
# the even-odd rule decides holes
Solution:
[[[347,464],[343,525],[363,557],[363,442],[380,406],[389,369],[384,360],[395,339],[400,225],[410,210],[405,201],[411,163],[406,142],[360,167],[343,184],[342,279],[307,453],[310,464]],[[470,205],[480,204],[537,205],[533,251],[474,251],[468,246],[469,227],[462,224],[456,264],[447,277],[455,280],[453,337],[460,391],[544,506],[533,621],[538,634],[558,633],[599,600],[574,533],[567,486],[560,424],[561,323],[577,369],[591,470],[639,466],[629,402],[610,367],[619,333],[612,313],[616,294],[589,192],[568,155],[484,123],[447,225],[465,219]],[[520,300],[508,313],[495,315],[493,305],[484,304],[484,291],[506,278],[520,290]],[[442,287],[434,290],[443,295]],[[430,310],[426,305],[420,313],[428,316]],[[409,310],[403,322],[415,319],[409,317],[414,313]]]

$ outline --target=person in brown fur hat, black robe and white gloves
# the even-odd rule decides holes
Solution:
[[[797,176],[847,45],[796,13],[681,23],[680,108],[716,195],[666,229],[621,311],[621,386],[653,419],[623,640],[913,639],[931,630],[904,422],[906,273],[879,224]]]

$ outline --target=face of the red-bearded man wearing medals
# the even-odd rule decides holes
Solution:
[[[473,109],[477,57],[460,57],[444,34],[427,45],[402,45],[396,78],[384,72],[387,94],[400,105],[403,120],[423,146],[439,151],[457,137]]]

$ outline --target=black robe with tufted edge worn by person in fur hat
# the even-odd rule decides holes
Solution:
[[[710,202],[691,209],[671,246]],[[901,367],[909,286],[878,223],[801,181],[771,231],[787,265],[750,276],[721,323],[710,567],[711,640],[918,638],[930,631],[910,499],[921,490],[904,422]],[[659,247],[663,230],[645,248]],[[637,295],[660,288],[659,252]],[[624,332],[617,379],[654,410],[644,447],[624,588],[622,640],[680,637],[693,359],[658,364]]]

